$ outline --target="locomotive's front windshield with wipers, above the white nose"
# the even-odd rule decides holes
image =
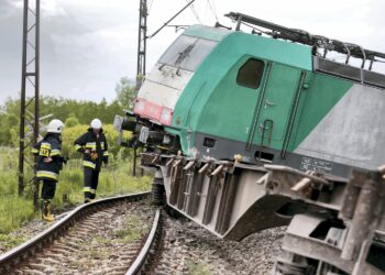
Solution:
[[[180,35],[158,63],[194,72],[216,45],[216,41]]]

